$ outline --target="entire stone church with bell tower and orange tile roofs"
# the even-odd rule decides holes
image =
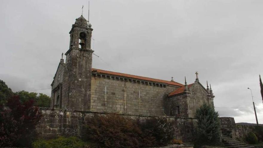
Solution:
[[[211,86],[180,84],[92,68],[91,24],[80,16],[69,32],[66,61],[60,59],[51,84],[51,108],[193,118],[202,104],[213,105]]]

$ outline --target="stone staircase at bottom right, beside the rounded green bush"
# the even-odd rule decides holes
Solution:
[[[248,144],[242,143],[224,134],[222,134],[222,141],[225,147],[229,147],[229,148],[254,148],[254,146],[250,146]]]

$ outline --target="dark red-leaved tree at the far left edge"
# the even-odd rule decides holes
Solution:
[[[35,126],[42,117],[33,100],[21,103],[19,96],[8,99],[7,107],[0,107],[0,147],[28,147],[36,138]]]

